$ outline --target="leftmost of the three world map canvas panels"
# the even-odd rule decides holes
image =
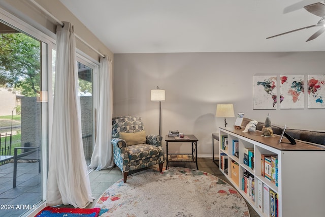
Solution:
[[[277,108],[277,79],[274,76],[254,76],[254,109]]]

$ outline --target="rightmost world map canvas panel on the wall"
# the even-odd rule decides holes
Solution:
[[[308,108],[325,108],[325,75],[308,75]]]

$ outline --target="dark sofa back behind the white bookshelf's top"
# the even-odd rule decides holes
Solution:
[[[252,119],[244,117],[242,126],[246,127]],[[272,122],[271,122],[272,123]],[[258,122],[256,130],[261,131],[264,126],[264,122]],[[281,135],[284,126],[273,125],[272,130],[274,134]],[[300,140],[307,143],[325,145],[325,131],[310,131],[310,130],[299,130],[286,128],[285,132],[296,140]]]

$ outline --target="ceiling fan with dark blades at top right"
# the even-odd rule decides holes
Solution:
[[[278,35],[275,35],[275,36],[268,37],[267,39],[271,39],[271,38],[274,38],[274,37],[277,37],[277,36],[282,36],[282,35],[285,35],[285,34],[288,34],[288,33],[293,33],[293,32],[296,32],[296,31],[299,31],[299,30],[302,30],[302,29],[306,29],[306,28],[311,28],[311,27],[315,27],[315,26],[322,26],[316,33],[314,33],[311,37],[309,37],[309,39],[307,39],[306,42],[308,42],[308,41],[311,41],[311,40],[317,38],[318,36],[320,36],[320,34],[325,32],[325,5],[322,4],[322,3],[314,3],[314,4],[311,4],[311,5],[305,6],[304,9],[306,9],[308,12],[310,12],[310,13],[316,15],[316,16],[321,17],[321,19],[317,22],[317,24],[305,26],[305,27],[298,28],[298,29],[295,29],[295,30],[291,30],[291,31],[286,32],[286,33],[281,33],[281,34],[278,34]]]

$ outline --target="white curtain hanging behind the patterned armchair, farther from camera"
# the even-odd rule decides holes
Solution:
[[[113,115],[112,78],[112,63],[109,61],[109,57],[101,57],[96,141],[90,163],[90,167],[96,168],[96,170],[110,168],[114,165],[111,144]]]

